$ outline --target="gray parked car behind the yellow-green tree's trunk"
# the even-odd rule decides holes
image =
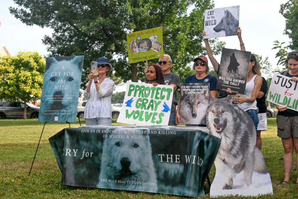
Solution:
[[[24,102],[0,101],[0,119],[24,118]],[[39,107],[27,102],[27,118],[38,118]]]

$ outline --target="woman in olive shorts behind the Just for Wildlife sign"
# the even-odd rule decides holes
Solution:
[[[281,73],[287,77],[291,77],[293,81],[298,81],[298,51],[288,54],[285,64],[288,65],[289,71]],[[290,180],[291,170],[293,167],[293,151],[296,152],[296,166],[298,168],[298,112],[275,104],[278,109],[276,123],[277,136],[283,142],[283,168],[285,170],[285,178],[279,186],[287,184]],[[298,185],[298,178],[296,180]]]

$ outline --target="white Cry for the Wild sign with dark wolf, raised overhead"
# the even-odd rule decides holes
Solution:
[[[240,6],[205,10],[204,39],[236,35]]]

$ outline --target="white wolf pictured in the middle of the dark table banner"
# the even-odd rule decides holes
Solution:
[[[156,192],[150,140],[107,136],[103,143],[98,188]]]

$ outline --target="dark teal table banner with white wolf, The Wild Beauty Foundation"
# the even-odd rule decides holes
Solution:
[[[198,128],[111,125],[66,128],[49,142],[62,185],[201,197],[221,141]]]

